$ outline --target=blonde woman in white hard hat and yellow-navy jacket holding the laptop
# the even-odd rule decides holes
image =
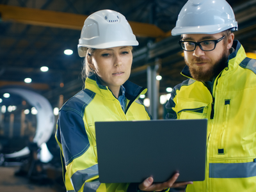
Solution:
[[[79,56],[85,57],[84,90],[60,109],[56,131],[67,191],[161,191],[179,175],[163,184],[152,184],[152,177],[140,185],[100,184],[98,180],[95,122],[150,120],[138,100],[147,90],[127,81],[133,45],[138,45],[136,37],[118,12],[101,10],[84,21],[78,45]]]

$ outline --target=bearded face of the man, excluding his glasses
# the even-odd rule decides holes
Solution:
[[[203,40],[218,40],[223,34],[184,34],[182,40],[193,42],[201,42]],[[227,36],[225,38],[228,38]],[[196,46],[195,51],[184,51],[184,59],[189,67],[189,72],[193,79],[197,81],[209,81],[220,74],[225,67],[225,62],[228,60],[229,49],[232,46],[225,38],[216,44],[212,51],[202,51],[199,46]]]

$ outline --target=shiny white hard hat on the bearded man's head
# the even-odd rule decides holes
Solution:
[[[172,35],[214,34],[231,29],[237,31],[237,21],[225,0],[189,0],[180,10]]]

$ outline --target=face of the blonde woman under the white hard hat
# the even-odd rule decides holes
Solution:
[[[110,90],[119,89],[131,74],[131,47],[111,47],[96,49],[88,64],[100,78],[100,83]]]

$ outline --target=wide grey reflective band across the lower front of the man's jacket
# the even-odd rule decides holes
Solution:
[[[256,176],[256,163],[210,163],[210,178],[244,178]]]

